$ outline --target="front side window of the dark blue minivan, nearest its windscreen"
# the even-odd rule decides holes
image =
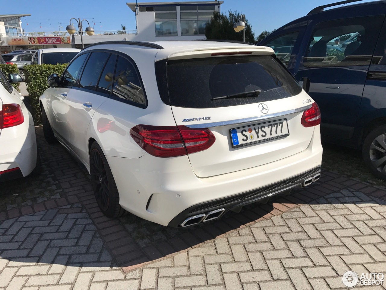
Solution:
[[[295,46],[296,38],[298,38],[299,32],[292,32],[289,34],[281,35],[272,39],[264,46],[269,46],[275,51],[275,55],[281,60],[281,62],[288,66],[289,58],[291,57],[293,47]]]

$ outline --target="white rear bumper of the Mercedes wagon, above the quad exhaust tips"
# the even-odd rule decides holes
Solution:
[[[319,128],[320,126],[315,127],[310,144],[298,154],[257,167],[206,178],[197,177],[193,173],[186,155],[158,158],[145,154],[140,158],[106,158],[117,184],[119,203],[125,210],[161,225],[178,226],[191,208],[241,196],[320,167],[323,149]],[[304,179],[306,178],[308,177],[305,176]],[[286,189],[290,188],[283,190]],[[254,202],[253,199],[247,201]],[[227,210],[232,206],[230,203]],[[195,214],[191,214],[193,215]]]

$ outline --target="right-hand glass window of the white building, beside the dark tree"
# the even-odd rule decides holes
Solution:
[[[215,5],[183,5],[181,13],[181,35],[203,35],[205,25],[213,16]]]

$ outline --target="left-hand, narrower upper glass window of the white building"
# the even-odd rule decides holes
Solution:
[[[156,36],[177,36],[176,6],[155,6]]]

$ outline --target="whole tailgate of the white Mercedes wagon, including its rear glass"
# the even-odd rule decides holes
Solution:
[[[176,125],[215,136],[209,148],[188,154],[197,176],[256,167],[308,147],[314,129],[301,117],[311,98],[275,56],[207,56],[168,60],[167,88],[158,84],[168,91]]]

